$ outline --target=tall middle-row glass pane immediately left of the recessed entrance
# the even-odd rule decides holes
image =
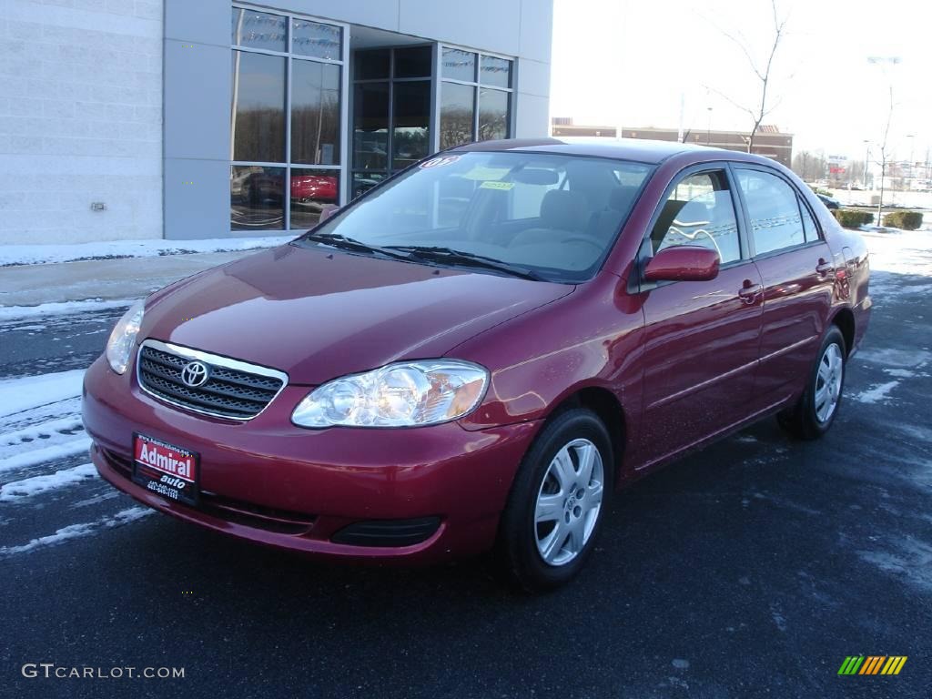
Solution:
[[[292,61],[292,162],[338,165],[340,66]]]

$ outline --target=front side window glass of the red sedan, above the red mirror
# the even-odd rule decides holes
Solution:
[[[651,245],[654,253],[674,245],[701,245],[716,251],[723,265],[741,259],[725,173],[699,172],[681,180],[651,230]]]

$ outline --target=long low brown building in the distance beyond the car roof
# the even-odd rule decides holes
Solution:
[[[618,137],[618,127],[587,126],[573,124],[571,117],[555,117],[551,122],[551,133],[555,136],[604,136]],[[725,150],[747,151],[749,131],[713,131],[688,130],[684,134],[688,144],[710,145]],[[643,138],[654,141],[677,141],[676,129],[657,129],[654,127],[623,128],[624,138]],[[754,137],[752,153],[765,158],[772,158],[781,165],[790,166],[793,158],[793,134],[782,133],[775,126],[761,126]]]

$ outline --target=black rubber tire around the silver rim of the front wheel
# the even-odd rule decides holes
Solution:
[[[594,514],[595,526],[588,539],[584,540],[582,549],[568,562],[551,565],[544,561],[538,548],[540,527],[546,525],[535,523],[535,511],[541,488],[548,478],[551,462],[564,446],[570,445],[574,440],[588,440],[596,446],[601,458],[601,505]],[[579,466],[578,461],[574,461],[574,464]],[[595,483],[594,478],[587,487]],[[608,511],[613,486],[614,459],[611,440],[605,425],[596,414],[584,408],[573,408],[552,418],[543,427],[522,460],[514,477],[505,511],[501,515],[496,548],[500,573],[525,592],[545,592],[569,583],[592,554]],[[567,506],[569,499],[563,502],[564,506]],[[583,517],[585,516],[587,515],[583,514]]]

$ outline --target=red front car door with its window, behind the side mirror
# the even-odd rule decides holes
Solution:
[[[651,230],[653,253],[672,245],[719,253],[712,281],[662,282],[642,291],[642,429],[649,466],[747,417],[761,333],[761,275],[742,254],[727,171],[688,174]]]

